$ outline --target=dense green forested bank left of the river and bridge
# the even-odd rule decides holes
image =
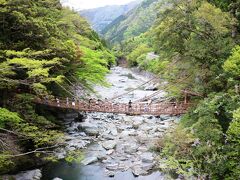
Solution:
[[[6,173],[49,158],[63,142],[54,116],[37,114],[34,98],[70,96],[69,81],[102,84],[115,59],[59,0],[2,0],[0,17],[0,173]]]

